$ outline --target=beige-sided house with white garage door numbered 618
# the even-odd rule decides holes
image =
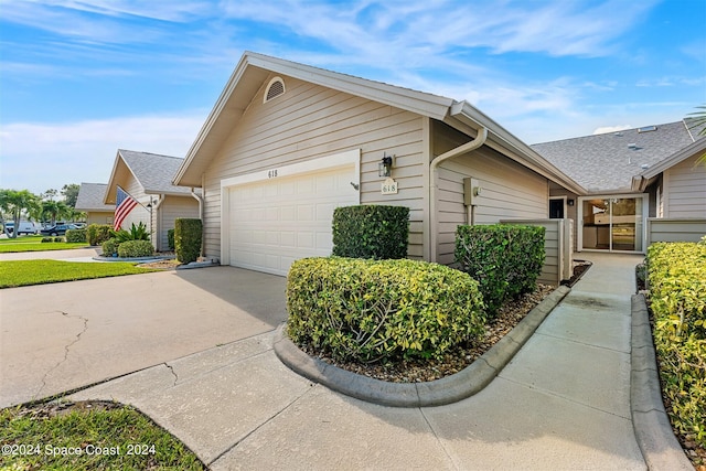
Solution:
[[[409,207],[409,257],[450,264],[459,224],[548,221],[550,191],[585,194],[466,101],[249,52],[173,183],[203,191],[205,257],[278,275],[331,254],[340,205]]]

